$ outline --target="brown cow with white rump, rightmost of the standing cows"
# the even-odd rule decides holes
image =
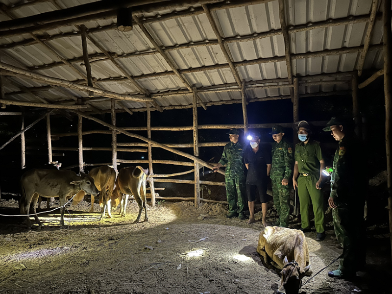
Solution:
[[[117,186],[119,195],[121,196],[120,216],[125,216],[126,204],[128,203],[129,195],[133,195],[139,205],[139,214],[134,223],[139,222],[143,207],[145,210],[144,221],[148,221],[146,209],[147,174],[148,169],[144,170],[142,167],[137,166],[136,168],[128,167],[121,169],[117,177]],[[125,201],[123,199],[123,194],[125,194]]]

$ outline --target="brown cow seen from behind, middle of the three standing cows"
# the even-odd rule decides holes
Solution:
[[[112,217],[110,212],[110,200],[114,189],[114,182],[116,181],[116,171],[111,166],[100,166],[91,170],[89,175],[94,179],[95,186],[99,194],[99,206],[101,207],[100,221],[105,217],[106,207],[109,218]],[[79,192],[73,198],[73,205],[79,203],[83,197],[83,192]],[[94,212],[94,195],[91,195],[91,209]]]

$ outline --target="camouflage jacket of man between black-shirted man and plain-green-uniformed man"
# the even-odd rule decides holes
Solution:
[[[293,166],[293,148],[285,139],[272,144],[272,168],[271,177],[289,179]]]

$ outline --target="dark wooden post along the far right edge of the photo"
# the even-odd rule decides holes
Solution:
[[[392,32],[391,32],[391,0],[384,0],[383,26],[384,26],[384,95],[385,95],[385,145],[387,149],[387,184],[388,184],[388,210],[389,229],[391,233],[392,250],[392,158],[391,158],[391,115],[392,115]]]

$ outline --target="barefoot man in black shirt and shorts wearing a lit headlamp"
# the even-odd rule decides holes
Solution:
[[[261,150],[260,134],[253,132],[248,136],[248,140],[251,148],[247,148],[244,153],[245,167],[248,169],[246,176],[246,193],[250,213],[248,224],[255,222],[254,201],[256,199],[257,187],[263,212],[263,225],[267,226],[267,202],[270,200],[270,196],[267,195],[267,182],[271,171],[270,152]]]

